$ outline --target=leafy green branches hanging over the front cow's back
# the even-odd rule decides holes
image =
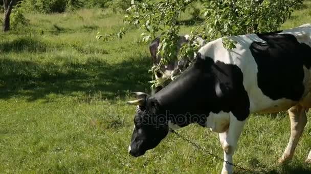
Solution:
[[[196,36],[203,36],[207,41],[225,37],[224,46],[230,49],[234,47],[230,36],[275,31],[302,3],[303,0],[132,0],[127,9],[128,14],[124,17],[124,23],[129,25],[116,34],[98,34],[97,39],[122,37],[135,26],[142,31],[144,42],[161,35],[158,54],[163,58],[160,64],[181,59],[190,59],[191,62],[194,52],[199,49],[192,42]],[[190,32],[190,42],[183,45],[177,57],[176,43],[181,25],[185,23],[182,20],[185,11],[192,14],[197,22]],[[175,72],[184,71],[177,70],[181,71]],[[160,71],[159,66],[151,68],[151,72],[157,71]],[[179,73],[173,73],[168,80],[177,75]],[[152,83],[153,87],[160,85],[156,80]]]

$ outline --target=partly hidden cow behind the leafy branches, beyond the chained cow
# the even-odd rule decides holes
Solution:
[[[153,41],[151,41],[149,45],[149,50],[151,54],[151,61],[153,65],[160,65],[161,56],[157,55],[158,47],[160,45],[160,37],[157,37]],[[177,42],[177,50],[183,46],[183,44],[189,42],[189,35],[184,35],[179,37],[179,41]],[[205,40],[202,37],[196,37],[194,42],[199,45],[199,47],[203,46],[205,44]],[[167,65],[162,65],[160,67],[160,71],[156,72],[155,77],[159,81],[165,81],[166,79],[170,78],[174,69],[177,67],[179,61],[171,61],[168,62]],[[183,66],[187,67],[189,62],[187,60],[182,60]],[[163,88],[163,86],[157,86],[156,89],[152,90],[152,94],[160,91]]]

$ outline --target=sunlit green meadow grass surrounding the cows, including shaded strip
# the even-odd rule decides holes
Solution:
[[[149,91],[148,46],[139,31],[122,40],[96,33],[122,26],[111,11],[27,14],[29,26],[0,34],[0,171],[5,173],[219,173],[222,163],[170,135],[140,158],[127,154],[135,107],[130,91]],[[311,21],[311,3],[281,28]],[[182,28],[189,32],[191,25]],[[286,85],[286,84],[284,84]],[[310,115],[308,114],[308,117]],[[222,157],[218,136],[190,125],[183,135]],[[307,124],[294,159],[276,164],[290,136],[286,113],[252,115],[234,162],[270,173],[311,172]]]

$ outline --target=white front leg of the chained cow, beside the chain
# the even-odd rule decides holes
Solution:
[[[224,160],[232,163],[232,156],[237,147],[237,142],[246,121],[238,121],[233,114],[230,114],[229,129],[219,133],[219,140],[224,150]],[[221,173],[232,173],[233,166],[224,162]]]

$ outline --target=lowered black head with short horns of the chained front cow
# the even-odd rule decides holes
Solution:
[[[160,114],[159,103],[156,99],[148,98],[145,93],[136,93],[137,100],[128,104],[137,105],[128,153],[138,157],[147,150],[153,149],[168,134],[168,124],[165,115]]]

